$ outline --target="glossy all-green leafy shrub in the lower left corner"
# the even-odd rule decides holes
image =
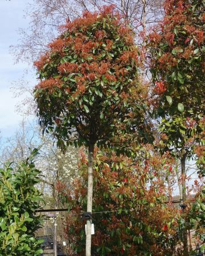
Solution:
[[[39,183],[40,172],[34,166],[34,156],[18,164],[12,170],[7,164],[0,170],[0,255],[40,255],[41,243],[35,232],[40,227],[41,217],[35,215],[42,200],[34,185]]]

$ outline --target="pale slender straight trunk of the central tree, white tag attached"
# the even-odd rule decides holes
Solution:
[[[92,212],[93,207],[93,152],[94,144],[89,145],[88,170],[87,170],[87,212]],[[87,220],[86,228],[86,256],[91,256],[91,218]]]

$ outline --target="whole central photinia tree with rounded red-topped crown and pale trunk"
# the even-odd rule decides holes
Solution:
[[[34,94],[40,124],[62,149],[88,147],[87,212],[92,211],[94,145],[122,143],[143,133],[145,95],[139,84],[139,58],[133,31],[114,6],[85,12],[61,27],[61,35],[35,62]],[[143,135],[141,135],[142,138]],[[91,250],[87,220],[86,255]]]

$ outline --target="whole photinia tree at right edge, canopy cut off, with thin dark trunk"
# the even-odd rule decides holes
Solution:
[[[181,161],[182,204],[186,160],[204,148],[205,2],[166,0],[164,19],[149,34],[150,71],[162,143]],[[202,155],[202,154],[200,154]],[[204,159],[198,160],[204,168]],[[186,230],[184,254],[188,254]]]

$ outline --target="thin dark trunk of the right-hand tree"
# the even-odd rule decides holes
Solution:
[[[186,153],[182,154],[181,158],[181,171],[182,171],[182,212],[185,212],[185,203],[186,203]],[[186,229],[186,223],[185,228],[182,232],[183,236],[183,255],[187,256],[189,255],[189,249],[188,249],[188,238],[187,238],[187,229]]]

